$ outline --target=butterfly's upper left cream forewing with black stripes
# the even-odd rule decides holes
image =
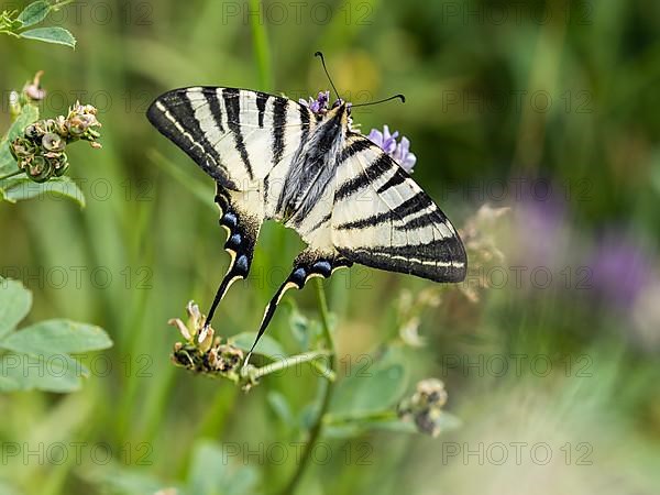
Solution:
[[[147,118],[222,187],[250,190],[307,140],[312,113],[284,97],[235,88],[168,91]]]

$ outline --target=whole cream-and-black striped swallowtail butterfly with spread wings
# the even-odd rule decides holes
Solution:
[[[308,248],[266,307],[257,341],[287,289],[353,263],[435,282],[465,277],[455,229],[389,155],[352,129],[343,100],[315,113],[282,96],[190,87],[158,97],[147,118],[216,182],[231,263],[207,322],[230,285],[248,276],[264,220],[294,229]]]

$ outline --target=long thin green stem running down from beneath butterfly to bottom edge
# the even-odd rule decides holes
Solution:
[[[319,299],[319,312],[321,315],[321,326],[323,329],[323,337],[326,339],[326,343],[329,348],[330,355],[330,370],[333,373],[337,373],[337,352],[334,349],[334,338],[332,337],[332,330],[330,329],[330,317],[328,312],[328,302],[326,300],[326,292],[323,290],[323,283],[320,278],[316,278],[316,288],[317,288],[317,297]],[[321,407],[317,415],[316,421],[309,431],[309,439],[307,440],[307,444],[305,446],[305,451],[302,452],[302,457],[300,458],[300,462],[298,463],[298,468],[294,473],[294,476],[287,483],[285,488],[280,492],[282,495],[295,495],[296,488],[302,480],[302,475],[309,465],[309,461],[311,459],[311,452],[321,436],[321,430],[323,428],[323,417],[328,413],[330,408],[330,399],[332,398],[332,391],[334,388],[334,382],[326,380],[323,383],[323,399],[321,402]]]

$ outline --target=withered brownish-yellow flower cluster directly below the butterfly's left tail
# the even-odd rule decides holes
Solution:
[[[174,345],[173,362],[195,373],[219,375],[238,383],[243,351],[231,344],[221,344],[220,338],[215,337],[215,330],[205,327],[206,317],[195,302],[188,302],[186,312],[187,323],[178,318],[168,321],[186,339],[186,342]]]

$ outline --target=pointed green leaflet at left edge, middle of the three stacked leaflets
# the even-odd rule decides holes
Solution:
[[[69,320],[47,320],[11,333],[0,346],[40,356],[100,351],[112,345],[103,329]]]

